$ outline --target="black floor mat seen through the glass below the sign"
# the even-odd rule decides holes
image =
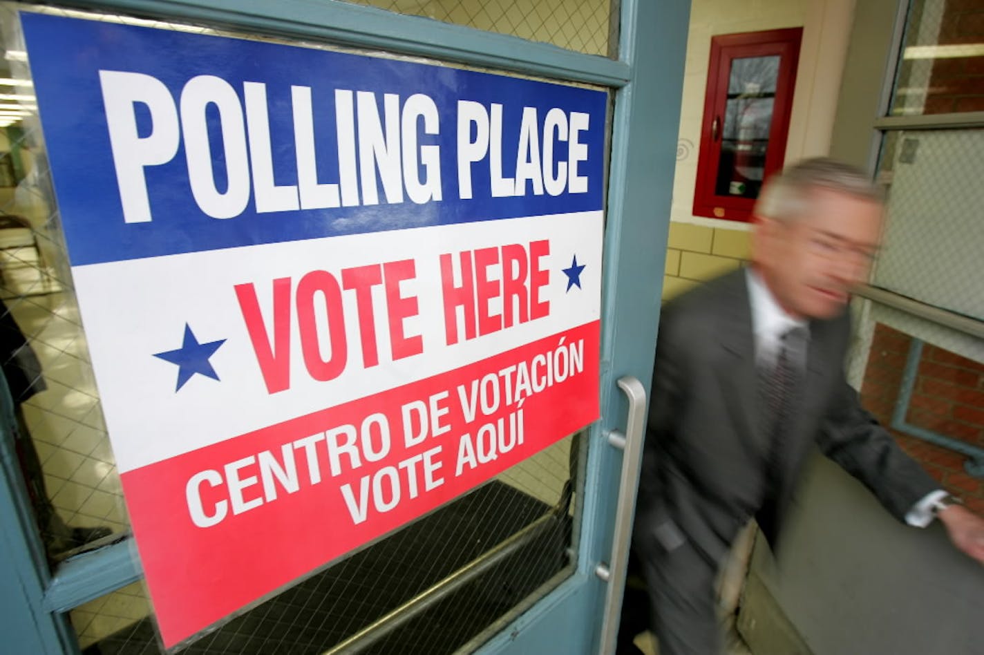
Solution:
[[[304,580],[181,652],[321,653],[550,510],[523,492],[493,481]],[[552,518],[537,535],[363,652],[440,655],[456,650],[567,564],[571,531],[566,512]],[[85,655],[158,652],[150,619],[84,651]]]

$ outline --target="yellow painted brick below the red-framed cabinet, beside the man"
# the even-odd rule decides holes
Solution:
[[[747,231],[672,221],[662,299],[738,268],[750,255]]]

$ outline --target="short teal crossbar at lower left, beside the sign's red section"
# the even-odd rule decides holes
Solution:
[[[58,567],[44,592],[44,609],[68,612],[144,577],[133,540],[127,538]]]

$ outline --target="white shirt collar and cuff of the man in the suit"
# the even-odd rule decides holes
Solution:
[[[802,327],[809,333],[809,325],[795,319],[779,306],[766,282],[753,269],[746,268],[748,296],[752,305],[752,333],[755,335],[755,362],[759,366],[772,366],[778,356],[782,335],[794,327]],[[916,527],[926,527],[935,517],[933,507],[947,496],[938,489],[930,492],[905,514],[905,522]]]

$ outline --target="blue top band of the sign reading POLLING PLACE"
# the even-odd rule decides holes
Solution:
[[[603,91],[21,20],[73,266],[602,205]]]

